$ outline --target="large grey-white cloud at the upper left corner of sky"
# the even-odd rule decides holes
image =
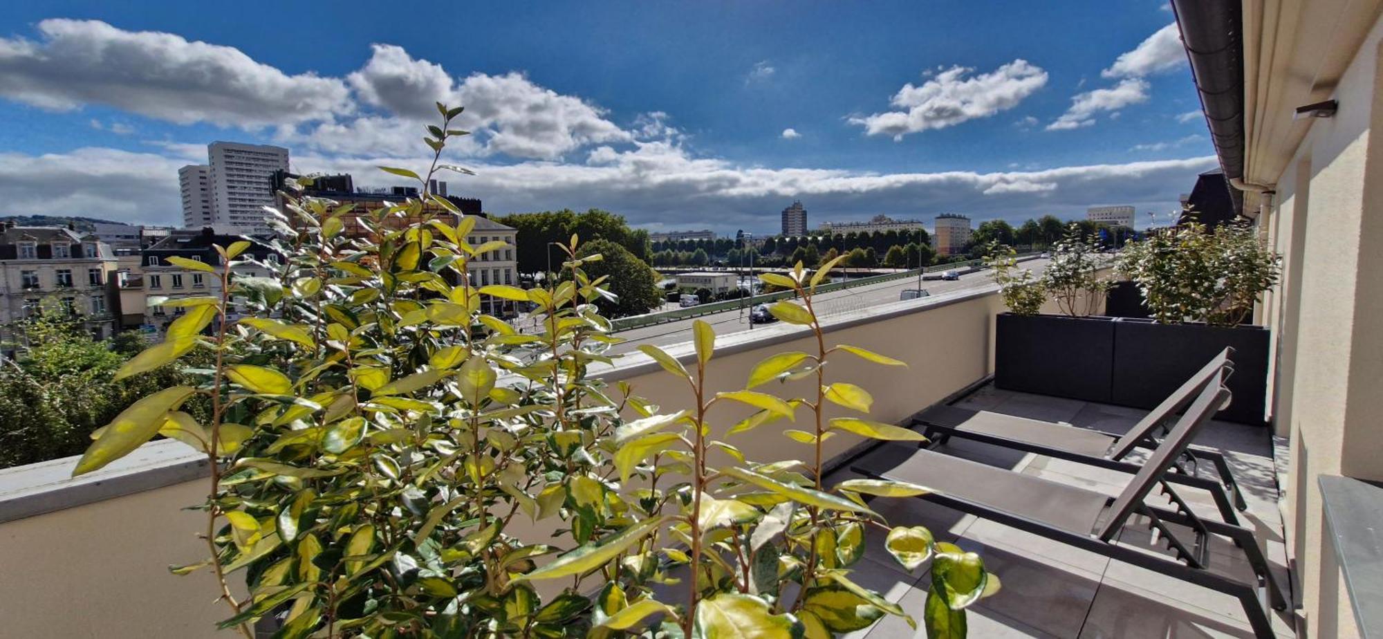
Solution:
[[[104,104],[162,120],[257,129],[351,109],[346,84],[286,75],[238,48],[100,21],[46,19],[0,37],[0,95],[50,111]]]

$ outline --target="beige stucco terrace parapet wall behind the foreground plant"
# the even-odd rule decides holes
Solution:
[[[992,371],[993,317],[1001,311],[999,296],[986,293],[946,304],[928,299],[927,310],[869,321],[871,314],[898,308],[924,308],[918,302],[860,310],[831,331],[828,344],[848,343],[896,357],[909,368],[881,367],[853,355],[833,355],[830,380],[849,380],[874,394],[873,418],[899,422],[910,414],[982,379]],[[911,306],[909,306],[911,304]],[[837,321],[839,325],[841,321]],[[721,340],[726,349],[711,362],[708,390],[743,387],[750,368],[784,350],[815,353],[815,340],[788,336],[792,328],[776,324]],[[737,343],[744,346],[732,346]],[[734,349],[744,349],[730,353]],[[668,349],[690,355],[690,344]],[[662,369],[642,367],[636,354],[620,368],[602,373],[624,379],[633,391],[671,412],[689,405],[686,385]],[[632,373],[631,373],[632,372]],[[805,394],[810,382],[761,387],[786,397]],[[716,407],[715,432],[744,418],[748,408]],[[804,415],[805,418],[805,415]],[[784,437],[786,427],[810,430],[801,422],[761,426],[730,441],[761,462],[808,459],[810,448]],[[860,441],[842,434],[827,440],[827,456]],[[726,463],[722,458],[718,463]],[[201,512],[183,510],[201,503],[205,483],[191,481],[134,495],[100,501],[15,521],[0,523],[0,636],[53,638],[201,638],[217,635],[214,624],[225,618],[224,604],[213,603],[214,580],[206,571],[177,577],[169,564],[196,562],[205,546],[195,537],[205,526]],[[524,526],[517,517],[510,532],[534,542],[550,542],[550,521]]]

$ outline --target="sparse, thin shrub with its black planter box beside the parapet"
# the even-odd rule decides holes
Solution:
[[[1094,245],[1075,228],[1051,249],[1039,278],[1001,248],[986,263],[1010,313],[994,322],[994,386],[1025,393],[1109,402],[1113,322],[1093,317],[1105,282]],[[1061,310],[1044,315],[1050,299]]]

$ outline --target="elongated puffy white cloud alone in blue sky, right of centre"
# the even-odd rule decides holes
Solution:
[[[889,101],[903,111],[851,118],[869,136],[892,136],[945,129],[961,122],[989,118],[1022,102],[1047,84],[1047,72],[1026,59],[1015,59],[989,73],[969,76],[975,69],[952,66],[921,86],[907,83]]]

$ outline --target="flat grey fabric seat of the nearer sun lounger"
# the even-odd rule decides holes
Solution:
[[[965,495],[999,510],[1082,535],[1094,530],[1109,503],[1109,497],[1101,492],[907,444],[884,444],[856,463],[888,479]]]

